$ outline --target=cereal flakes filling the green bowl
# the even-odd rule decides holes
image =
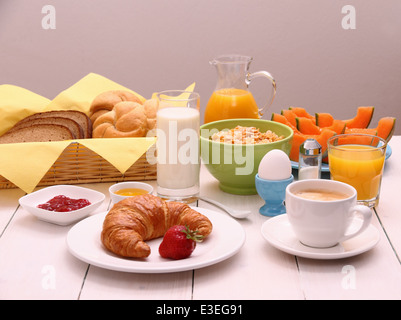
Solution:
[[[211,136],[211,139],[216,142],[229,144],[261,144],[280,141],[283,136],[278,136],[271,130],[260,132],[255,127],[236,126],[231,130],[222,130]]]

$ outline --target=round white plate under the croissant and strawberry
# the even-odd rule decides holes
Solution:
[[[78,259],[97,267],[133,273],[169,273],[198,269],[218,263],[236,254],[245,242],[245,231],[234,219],[216,211],[194,208],[213,224],[212,233],[196,245],[187,259],[168,260],[160,257],[162,238],[147,241],[151,254],[146,259],[119,257],[108,251],[100,240],[106,213],[99,213],[73,226],[67,235],[67,247]]]

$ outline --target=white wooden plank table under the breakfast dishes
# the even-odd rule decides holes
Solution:
[[[272,247],[261,235],[269,218],[258,195],[219,190],[205,168],[201,194],[235,208],[246,242],[235,256],[197,270],[135,274],[88,265],[67,250],[71,226],[42,222],[18,205],[19,189],[0,191],[0,300],[2,299],[401,299],[401,136],[390,142],[380,205],[372,224],[381,240],[372,250],[340,260],[312,260]],[[151,182],[155,184],[155,182]],[[109,207],[109,183],[83,185],[106,194],[96,213]],[[198,206],[226,214],[199,201]],[[229,236],[229,235],[227,235]]]

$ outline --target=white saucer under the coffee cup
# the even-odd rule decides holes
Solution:
[[[352,226],[351,226],[352,227]],[[262,235],[273,247],[303,258],[342,259],[372,249],[380,240],[379,231],[370,225],[360,235],[331,248],[312,248],[303,245],[296,237],[286,214],[267,220],[262,225]]]

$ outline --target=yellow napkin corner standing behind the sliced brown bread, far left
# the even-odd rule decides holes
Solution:
[[[0,85],[0,136],[21,119],[42,112],[49,102],[49,99],[27,89]]]

